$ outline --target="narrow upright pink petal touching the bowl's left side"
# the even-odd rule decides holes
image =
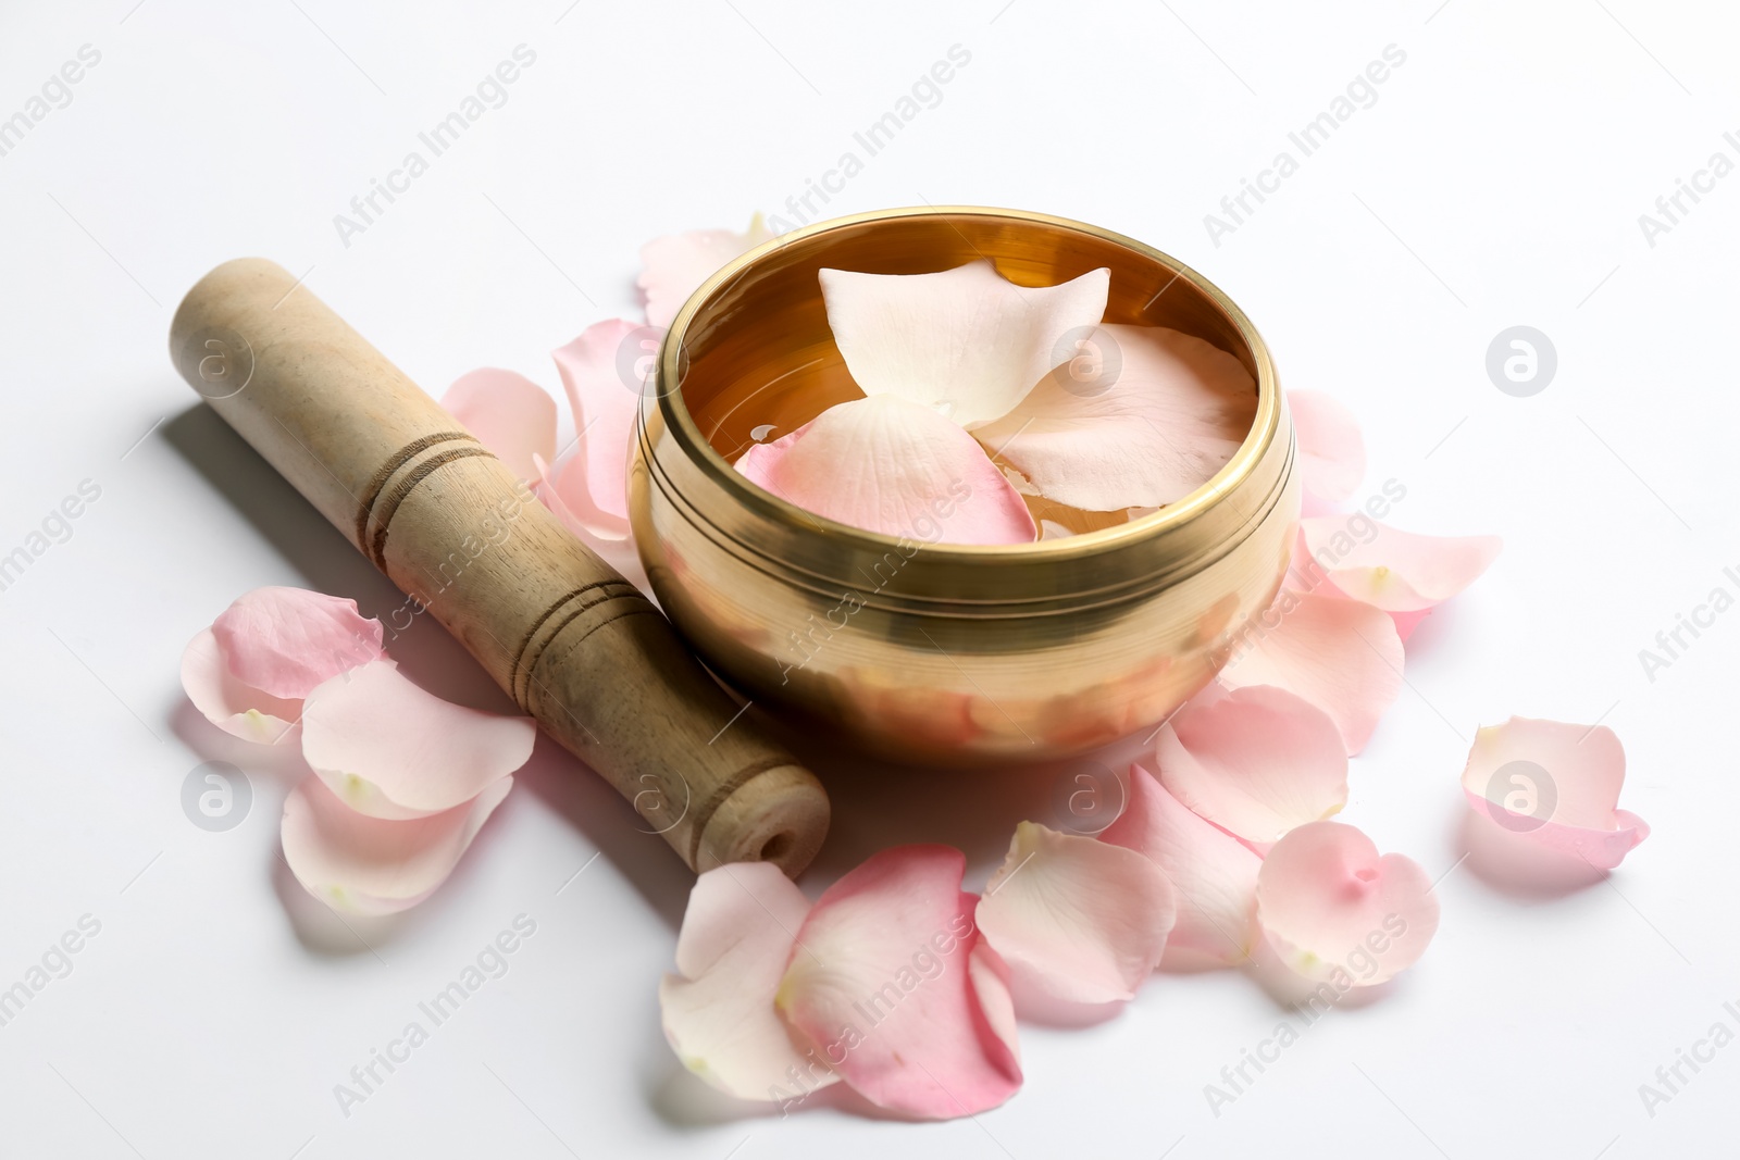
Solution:
[[[628,461],[646,377],[658,357],[644,330],[607,318],[552,351],[574,412],[574,452],[560,464],[559,490],[576,517],[604,534],[628,530]]]

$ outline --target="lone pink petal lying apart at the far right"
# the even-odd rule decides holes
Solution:
[[[1474,736],[1462,791],[1495,824],[1599,870],[1613,870],[1650,837],[1618,809],[1625,748],[1606,725],[1512,717]]]

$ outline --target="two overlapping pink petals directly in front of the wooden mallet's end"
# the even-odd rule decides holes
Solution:
[[[910,1117],[995,1108],[1021,1085],[1014,1005],[964,870],[960,850],[894,847],[814,904],[767,863],[703,873],[659,988],[677,1057],[786,1108],[837,1080]]]

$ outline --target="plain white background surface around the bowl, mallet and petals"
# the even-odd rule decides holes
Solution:
[[[101,499],[0,593],[0,986],[82,915],[101,934],[0,1028],[7,1157],[1705,1157],[1731,1155],[1740,1047],[1650,1117],[1637,1087],[1737,1019],[1740,614],[1651,682],[1637,652],[1740,563],[1731,266],[1740,176],[1650,245],[1637,216],[1740,160],[1717,5],[1641,0],[1112,5],[0,7],[0,117],[94,45],[66,108],[0,157],[0,553],[82,480]],[[536,64],[343,245],[332,216],[515,45]],[[287,877],[285,762],[184,704],[186,640],[258,584],[397,595],[169,365],[179,296],[271,256],[433,391],[477,365],[557,386],[546,351],[633,315],[637,247],[780,212],[950,45],[971,64],[828,212],[1016,205],[1166,249],[1239,301],[1293,388],[1364,421],[1394,522],[1505,553],[1409,643],[1345,817],[1439,885],[1442,929],[1375,1002],[1312,1026],[1237,1103],[1204,1085],[1286,1014],[1239,974],[1161,976],[1089,1030],[1023,1028],[1027,1087],[938,1125],[818,1097],[713,1097],[658,1030],[689,875],[539,744],[452,880],[385,922]],[[1232,235],[1204,214],[1376,59],[1406,64]],[[1557,348],[1545,391],[1484,370],[1502,329]],[[421,633],[421,635],[419,635]],[[398,649],[506,708],[438,628]],[[1521,885],[1469,850],[1456,783],[1510,713],[1604,720],[1655,835],[1606,880]],[[221,758],[254,803],[183,816]],[[903,840],[969,885],[1035,774],[837,770],[816,892]],[[600,854],[588,866],[588,859]],[[586,870],[576,878],[576,870]],[[566,883],[566,885],[564,885]],[[346,1118],[332,1094],[525,913],[536,934]],[[1690,1071],[1686,1073],[1690,1075]],[[1171,1151],[1169,1151],[1171,1150]]]

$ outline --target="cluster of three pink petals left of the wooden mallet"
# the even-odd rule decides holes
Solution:
[[[313,770],[284,803],[284,861],[332,910],[428,897],[513,786],[527,717],[480,713],[412,683],[381,623],[299,588],[256,588],[181,657],[195,708],[224,732],[301,744]]]

